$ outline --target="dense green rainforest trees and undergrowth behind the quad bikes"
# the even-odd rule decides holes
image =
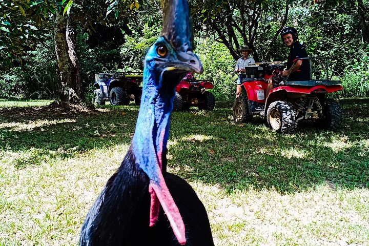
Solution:
[[[369,96],[369,1],[189,0],[195,53],[217,100],[232,101],[242,45],[284,61],[279,33],[294,26],[312,57],[329,57],[338,97]],[[161,28],[159,0],[0,0],[0,98],[91,101],[94,74],[141,71]],[[325,60],[314,74],[325,77]]]

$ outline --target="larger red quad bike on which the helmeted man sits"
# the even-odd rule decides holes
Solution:
[[[281,62],[257,63],[247,68],[250,76],[244,79],[241,85],[242,95],[236,98],[233,105],[234,120],[249,122],[254,115],[260,115],[264,117],[265,125],[280,133],[293,133],[300,120],[314,121],[331,130],[339,128],[343,117],[342,109],[335,100],[326,96],[327,93],[343,88],[341,81],[328,79],[327,68],[326,79],[286,79],[265,98],[268,79],[283,68]],[[263,105],[264,109],[257,110]]]

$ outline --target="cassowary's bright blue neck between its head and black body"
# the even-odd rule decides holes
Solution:
[[[145,64],[144,87],[132,148],[138,165],[149,176],[155,172],[152,167],[155,158],[162,163],[162,153],[166,151],[169,138],[175,86],[183,75],[183,72],[162,71]]]

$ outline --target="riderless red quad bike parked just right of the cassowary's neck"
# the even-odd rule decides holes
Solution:
[[[198,80],[192,75],[186,75],[176,87],[173,111],[189,110],[192,106],[198,107],[199,110],[213,110],[214,95],[206,91],[213,88],[213,80]]]

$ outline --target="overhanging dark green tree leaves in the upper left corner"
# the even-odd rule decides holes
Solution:
[[[128,15],[127,9],[138,8],[137,0],[0,0],[0,68],[9,66],[14,60],[21,61],[25,51],[33,49],[52,27],[56,14],[73,12],[75,23],[90,33],[95,23],[107,25],[118,16]],[[114,11],[114,16],[112,12]]]

